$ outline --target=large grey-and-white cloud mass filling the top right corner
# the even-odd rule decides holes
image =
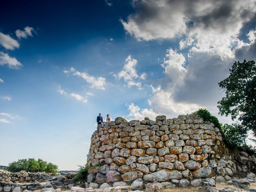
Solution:
[[[124,29],[138,40],[182,38],[180,49],[234,57],[242,27],[255,20],[255,0],[141,0]]]

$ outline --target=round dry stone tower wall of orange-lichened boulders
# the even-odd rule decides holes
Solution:
[[[250,158],[244,160],[250,162],[250,168],[243,164],[245,172],[255,170],[256,159]],[[88,182],[230,180],[240,163],[225,148],[220,129],[195,114],[130,122],[118,117],[98,125],[92,134]]]

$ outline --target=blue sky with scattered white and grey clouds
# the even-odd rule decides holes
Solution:
[[[26,0],[0,6],[0,165],[86,163],[96,117],[206,108],[256,59],[256,0]]]

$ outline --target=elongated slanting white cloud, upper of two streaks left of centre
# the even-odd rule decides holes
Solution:
[[[73,67],[70,68],[70,72],[73,72],[73,75],[82,77],[84,80],[86,80],[86,82],[90,84],[90,88],[105,90],[105,86],[107,84],[105,78],[103,77],[95,78],[94,76],[91,76],[86,72],[79,72]]]

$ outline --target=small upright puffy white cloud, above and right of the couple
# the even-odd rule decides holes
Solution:
[[[113,76],[115,78],[124,79],[124,81],[127,82],[128,87],[137,86],[139,89],[141,89],[141,82],[138,80],[145,80],[147,74],[143,72],[141,75],[138,75],[138,72],[136,70],[137,64],[138,60],[132,58],[132,56],[129,55],[125,59],[123,70],[118,72],[117,75],[114,74]]]

